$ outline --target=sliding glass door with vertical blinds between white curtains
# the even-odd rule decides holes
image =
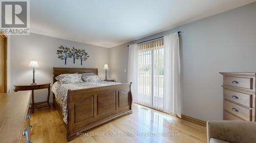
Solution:
[[[163,109],[163,39],[138,44],[138,102]]]

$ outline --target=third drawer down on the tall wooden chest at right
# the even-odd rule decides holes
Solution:
[[[224,100],[224,110],[246,121],[251,121],[251,117],[252,117],[251,109],[248,109],[246,107]]]

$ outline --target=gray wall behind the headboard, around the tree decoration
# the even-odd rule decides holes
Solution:
[[[109,64],[109,48],[83,44],[48,36],[31,33],[30,36],[11,36],[11,86],[20,83],[31,83],[32,69],[27,68],[30,61],[35,59],[39,68],[36,69],[37,83],[53,81],[53,67],[98,68],[98,74],[104,78],[103,66]],[[69,59],[67,65],[57,58],[56,50],[60,46],[85,49],[90,55],[87,61],[80,65],[77,60]],[[51,84],[52,85],[52,84]],[[13,88],[12,88],[13,89]],[[35,102],[47,99],[47,90],[35,91]],[[52,101],[52,93],[51,93]]]

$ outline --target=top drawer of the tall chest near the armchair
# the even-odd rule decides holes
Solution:
[[[246,78],[246,77],[229,77],[225,76],[223,85],[230,85],[233,87],[239,87],[244,89],[252,90],[252,79],[253,78]]]

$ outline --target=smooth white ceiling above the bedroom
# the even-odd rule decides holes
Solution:
[[[113,47],[256,0],[31,0],[32,33]]]

